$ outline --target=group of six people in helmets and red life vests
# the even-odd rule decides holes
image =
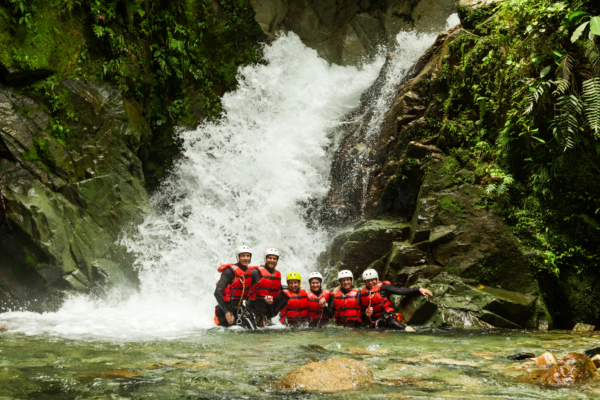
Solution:
[[[333,291],[324,289],[323,276],[318,272],[308,276],[309,288],[301,286],[302,277],[296,271],[286,276],[287,286],[281,285],[281,273],[277,270],[279,252],[266,249],[265,264],[250,266],[252,251],[248,246],[235,250],[237,262],[218,268],[221,277],[215,289],[217,306],[215,324],[229,327],[240,325],[256,329],[272,324],[279,314],[280,322],[287,326],[323,327],[331,319],[344,327],[385,327],[404,330],[401,315],[389,299],[391,294],[433,294],[425,288],[396,288],[390,282],[379,281],[374,269],[362,273],[365,285],[354,288],[352,271],[338,273],[337,286]]]

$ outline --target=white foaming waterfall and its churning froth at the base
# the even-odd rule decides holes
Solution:
[[[415,58],[434,38],[406,34],[404,52]],[[125,300],[74,296],[57,312],[7,312],[2,326],[27,335],[176,338],[214,327],[217,267],[235,262],[236,246],[253,247],[252,265],[276,247],[282,274],[310,272],[326,244],[307,214],[328,191],[325,149],[383,58],[361,69],[328,65],[293,33],[266,46],[264,57],[266,65],[239,69],[238,88],[222,99],[227,115],[181,133],[184,157],[151,199],[157,213],[122,241],[138,257],[139,291]]]

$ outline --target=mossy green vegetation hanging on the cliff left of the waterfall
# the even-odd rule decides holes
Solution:
[[[4,0],[3,83],[19,86],[52,114],[50,134],[77,143],[80,116],[64,79],[104,80],[143,105],[152,128],[140,148],[146,186],[157,186],[179,152],[174,126],[220,112],[238,65],[260,59],[264,38],[248,0]],[[31,157],[43,163],[43,146]]]

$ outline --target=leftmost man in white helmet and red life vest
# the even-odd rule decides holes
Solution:
[[[248,246],[239,246],[235,249],[235,258],[238,261],[235,264],[223,264],[217,269],[221,277],[215,289],[215,324],[225,327],[243,324],[244,327],[256,329],[244,313],[242,303],[250,295],[252,286],[252,250]]]

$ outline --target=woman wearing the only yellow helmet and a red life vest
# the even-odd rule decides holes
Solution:
[[[281,312],[280,321],[289,326],[300,326],[308,321],[308,298],[300,288],[302,277],[296,271],[286,276],[287,289],[279,292],[273,300],[273,314]]]

